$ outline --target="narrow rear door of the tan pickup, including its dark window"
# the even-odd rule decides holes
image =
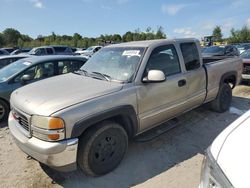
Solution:
[[[187,101],[185,108],[194,108],[203,103],[206,96],[206,72],[202,66],[197,44],[181,43],[180,49],[185,64],[187,78]]]

